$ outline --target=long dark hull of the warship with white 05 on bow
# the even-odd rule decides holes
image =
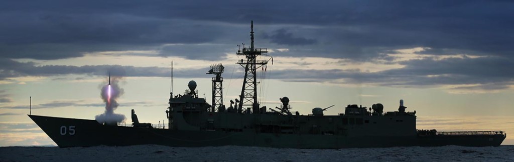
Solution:
[[[59,147],[164,145],[172,147],[258,146],[273,148],[365,148],[399,146],[499,146],[505,136],[344,136],[255,131],[176,131],[101,125],[96,120],[29,115]]]

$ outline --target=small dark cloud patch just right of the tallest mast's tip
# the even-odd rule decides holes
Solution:
[[[271,43],[275,43],[278,45],[288,45],[288,46],[312,45],[312,44],[317,43],[316,39],[295,37],[292,35],[292,33],[287,32],[287,30],[283,29],[283,28],[273,31],[272,34],[270,34],[270,35],[263,33],[263,38],[270,39]]]

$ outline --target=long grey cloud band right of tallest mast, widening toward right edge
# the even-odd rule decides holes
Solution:
[[[363,72],[358,69],[278,70],[273,71],[273,76],[289,82],[373,84],[397,87],[475,85],[454,88],[466,90],[500,90],[514,84],[514,72],[508,70],[514,68],[514,62],[502,57],[441,60],[425,58],[400,64],[405,67],[379,72]]]

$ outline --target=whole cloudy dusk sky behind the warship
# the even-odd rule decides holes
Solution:
[[[399,99],[418,129],[503,130],[514,145],[511,1],[2,1],[0,146],[55,145],[26,115],[94,119],[107,74],[115,113],[166,119],[189,80],[211,101],[209,66],[225,66],[224,102],[241,93],[237,45],[267,48],[259,102],[307,115]],[[262,57],[259,59],[267,59]],[[127,119],[125,123],[130,123]]]

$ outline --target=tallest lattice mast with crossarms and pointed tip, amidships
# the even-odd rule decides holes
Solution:
[[[256,82],[256,69],[261,68],[262,66],[268,64],[268,60],[256,60],[257,56],[262,55],[262,53],[267,53],[266,48],[255,48],[253,41],[253,21],[251,21],[251,31],[250,31],[250,39],[251,44],[250,48],[245,48],[243,46],[243,50],[238,50],[237,55],[244,55],[246,60],[241,59],[238,60],[237,64],[241,65],[245,68],[245,77],[243,81],[243,88],[241,90],[240,95],[240,104],[238,105],[237,111],[242,112],[243,107],[245,108],[258,108],[259,104],[257,102],[257,82]],[[244,45],[244,44],[243,44]]]

